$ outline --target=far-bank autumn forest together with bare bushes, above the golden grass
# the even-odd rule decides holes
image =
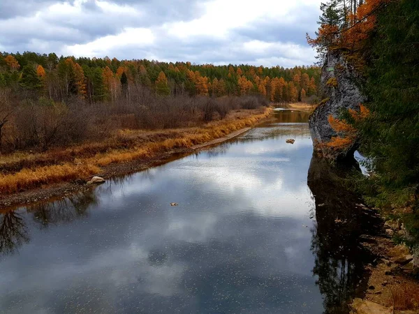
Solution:
[[[316,66],[199,66],[4,52],[0,154],[46,151],[121,129],[198,126],[269,101],[312,100],[319,77]]]

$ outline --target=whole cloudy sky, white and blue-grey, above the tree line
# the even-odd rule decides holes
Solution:
[[[0,51],[311,65],[321,0],[0,0]]]

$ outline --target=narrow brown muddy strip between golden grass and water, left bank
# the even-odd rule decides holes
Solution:
[[[103,179],[109,180],[116,177],[125,177],[126,175],[133,174],[136,172],[141,172],[147,170],[151,167],[158,167],[170,161],[177,160],[178,158],[183,158],[190,154],[193,154],[200,149],[210,147],[215,144],[220,144],[228,140],[246,133],[255,126],[264,123],[271,119],[272,110],[267,109],[264,112],[265,117],[257,119],[255,123],[251,126],[246,126],[240,128],[239,130],[233,130],[227,135],[213,140],[204,142],[203,144],[196,144],[191,147],[178,148],[178,149],[169,149],[168,151],[158,152],[155,156],[147,158],[138,158],[133,160],[124,161],[121,163],[110,163],[101,167],[101,171],[91,175],[98,177],[103,177]],[[258,115],[251,115],[250,118],[254,118]],[[226,121],[227,122],[227,121]],[[87,179],[84,180],[72,180],[72,181],[61,181],[58,183],[45,184],[37,188],[29,188],[22,192],[10,193],[8,195],[0,196],[0,212],[15,210],[19,207],[24,207],[28,205],[37,204],[39,202],[52,202],[54,200],[59,200],[66,198],[68,196],[74,195],[75,193],[84,193],[87,190],[95,188],[95,185],[87,184]]]

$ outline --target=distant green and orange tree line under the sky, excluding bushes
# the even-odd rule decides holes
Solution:
[[[0,87],[55,101],[79,96],[87,103],[115,102],[129,99],[133,89],[147,88],[161,96],[261,95],[274,102],[295,102],[317,93],[319,77],[316,66],[214,66],[0,53]]]

